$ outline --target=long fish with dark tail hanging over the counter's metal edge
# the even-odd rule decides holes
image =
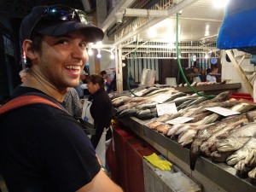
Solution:
[[[195,162],[200,154],[201,143],[206,141],[216,131],[223,129],[226,125],[229,125],[230,123],[236,122],[237,120],[240,120],[243,118],[244,118],[244,115],[234,115],[232,118],[229,117],[229,118],[222,119],[221,121],[216,122],[215,124],[210,125],[198,131],[189,152],[190,169],[192,171],[195,170]]]

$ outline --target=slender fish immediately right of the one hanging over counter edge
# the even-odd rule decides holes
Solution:
[[[248,120],[244,116],[244,119],[231,123],[230,125],[225,126],[222,130],[213,133],[212,136],[207,139],[207,141],[201,144],[201,154],[211,156],[212,152],[216,150],[215,141],[218,136],[221,136],[224,133],[229,133],[230,131],[234,131],[247,122]]]

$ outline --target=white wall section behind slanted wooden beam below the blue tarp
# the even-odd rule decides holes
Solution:
[[[235,54],[236,61],[240,62],[241,56],[244,54],[244,52],[238,51],[236,49],[233,49],[233,51]],[[222,64],[222,80],[225,79],[227,83],[230,83],[230,84],[241,83],[241,89],[239,89],[238,91],[243,93],[248,93],[245,84],[241,82],[240,76],[236,72],[236,68],[233,66],[231,62],[226,61],[226,53],[224,50],[222,51],[221,64]],[[241,62],[241,68],[243,69],[243,71],[253,72],[255,71],[256,67],[254,67],[253,64],[250,64],[250,58],[247,58]],[[250,74],[247,74],[247,78],[250,78],[250,76],[251,76]]]

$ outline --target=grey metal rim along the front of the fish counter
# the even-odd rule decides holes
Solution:
[[[135,117],[126,117],[119,120],[125,126],[129,127],[131,131],[137,133],[138,136],[148,137],[149,140],[158,143],[172,154],[175,154],[178,159],[183,160],[184,163],[189,165],[189,148],[183,148],[172,139],[148,128],[146,125],[147,121]],[[230,192],[256,191],[256,186],[249,183],[248,179],[241,179],[236,176],[235,168],[224,163],[214,163],[210,158],[200,156],[196,162],[195,171],[200,172],[213,183]]]

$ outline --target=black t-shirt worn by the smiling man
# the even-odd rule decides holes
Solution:
[[[40,91],[19,87],[15,96],[28,92]],[[0,118],[0,163],[9,192],[76,191],[100,171],[90,139],[61,109],[32,104]]]

